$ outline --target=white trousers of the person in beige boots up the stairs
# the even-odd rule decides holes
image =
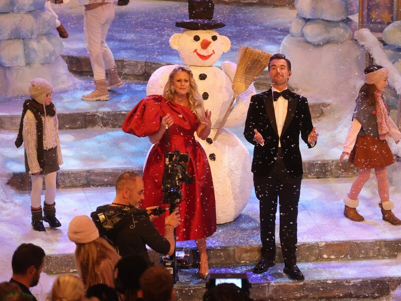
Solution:
[[[85,11],[85,42],[95,80],[105,79],[105,69],[112,69],[115,66],[113,54],[106,44],[107,32],[113,19],[114,4],[112,3]]]

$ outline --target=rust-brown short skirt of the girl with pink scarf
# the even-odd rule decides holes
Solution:
[[[394,157],[386,140],[358,135],[348,161],[355,167],[368,169],[389,166],[394,163]]]

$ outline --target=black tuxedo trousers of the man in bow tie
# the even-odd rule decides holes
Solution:
[[[280,208],[280,245],[284,264],[297,263],[297,217],[301,192],[302,175],[291,176],[285,168],[279,148],[278,156],[267,176],[254,174],[256,197],[260,209],[260,237],[262,257],[274,260],[276,257],[276,212]]]

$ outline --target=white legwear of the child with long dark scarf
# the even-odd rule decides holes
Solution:
[[[56,199],[56,175],[57,173],[50,173],[45,176],[43,175],[31,175],[32,191],[31,191],[31,207],[38,208],[41,206],[41,193],[43,188],[43,178],[45,178],[46,192],[45,201],[46,204],[53,204]]]

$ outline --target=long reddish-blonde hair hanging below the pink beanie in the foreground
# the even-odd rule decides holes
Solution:
[[[88,243],[77,243],[75,260],[78,274],[84,282],[85,289],[89,286],[105,283],[104,272],[99,268],[103,260],[118,261],[120,256],[102,237]]]

